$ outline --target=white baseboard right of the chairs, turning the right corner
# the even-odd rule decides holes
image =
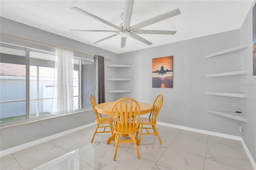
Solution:
[[[244,150],[252,164],[252,167],[254,170],[256,170],[256,163],[252,157],[252,154],[250,153],[250,151],[248,150],[244,140],[242,137],[240,136],[234,136],[234,135],[229,135],[229,134],[223,134],[223,133],[217,133],[217,132],[212,132],[212,131],[208,131],[208,130],[201,130],[201,129],[197,129],[197,128],[190,128],[190,127],[184,127],[184,126],[180,126],[180,125],[173,125],[173,124],[169,124],[169,123],[163,123],[163,122],[157,122],[157,125],[162,125],[162,126],[166,126],[166,127],[172,127],[172,128],[179,128],[182,130],[189,130],[192,132],[198,132],[198,133],[203,133],[203,134],[209,134],[212,136],[218,136],[218,137],[222,137],[222,138],[228,138],[228,139],[233,139],[233,140],[239,140],[242,142],[242,145],[244,147]]]

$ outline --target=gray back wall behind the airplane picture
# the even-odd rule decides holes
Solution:
[[[240,30],[121,54],[120,63],[132,64],[133,91],[128,95],[153,103],[162,93],[160,122],[241,136],[240,121],[206,112],[206,109],[240,110],[239,98],[206,95],[206,91],[240,90],[237,77],[206,78],[208,73],[240,69],[239,53],[212,59],[205,57],[236,45],[240,45]],[[173,55],[173,88],[152,88],[152,58],[170,55]]]

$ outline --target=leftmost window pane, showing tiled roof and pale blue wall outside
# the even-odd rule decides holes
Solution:
[[[0,122],[26,119],[26,51],[0,50]]]

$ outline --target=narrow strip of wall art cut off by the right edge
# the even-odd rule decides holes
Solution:
[[[256,75],[256,4],[252,8],[252,75]]]

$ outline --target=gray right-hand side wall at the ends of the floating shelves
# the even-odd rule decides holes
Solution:
[[[241,28],[241,43],[248,45],[241,53],[241,69],[248,71],[247,75],[241,77],[241,91],[248,94],[248,98],[241,101],[242,110],[248,118],[248,123],[243,123],[242,138],[256,162],[256,76],[252,75],[252,9]]]

